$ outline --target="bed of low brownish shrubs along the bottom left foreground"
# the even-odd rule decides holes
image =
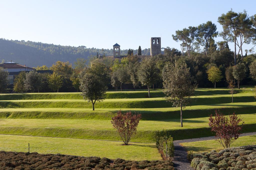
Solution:
[[[174,170],[171,161],[125,161],[108,158],[83,157],[63,154],[39,154],[37,152],[5,152],[0,151],[1,169],[170,169]]]

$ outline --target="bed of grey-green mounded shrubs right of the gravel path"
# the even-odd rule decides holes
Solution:
[[[195,153],[191,167],[196,170],[256,170],[256,145]]]

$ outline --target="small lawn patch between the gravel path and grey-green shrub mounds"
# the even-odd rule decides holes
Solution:
[[[223,149],[221,143],[216,140],[206,140],[206,141],[197,141],[197,142],[184,142],[180,143],[184,146],[187,151],[193,150],[195,152],[205,152],[216,150],[219,151]],[[244,146],[244,145],[256,145],[256,135],[252,136],[242,136],[235,140],[231,147]]]

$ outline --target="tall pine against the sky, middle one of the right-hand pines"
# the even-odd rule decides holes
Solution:
[[[217,37],[217,27],[211,21],[200,24],[198,26],[198,37],[197,41],[200,45],[204,46],[203,53],[208,56],[208,48],[210,47],[210,40]]]

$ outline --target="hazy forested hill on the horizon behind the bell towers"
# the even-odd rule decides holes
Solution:
[[[111,47],[111,44],[110,44]],[[103,51],[104,50],[104,51]],[[26,64],[28,67],[51,66],[56,61],[69,61],[74,63],[77,58],[88,59],[102,55],[113,55],[113,49],[86,48],[86,46],[72,47],[46,44],[32,41],[18,41],[0,39],[0,63],[13,62]],[[121,50],[121,55],[127,55],[128,50]],[[133,50],[137,54],[137,49]],[[150,48],[142,50],[142,55],[150,55]]]

